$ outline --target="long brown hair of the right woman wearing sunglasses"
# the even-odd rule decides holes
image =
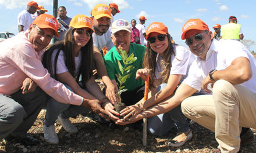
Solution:
[[[163,66],[163,71],[160,72],[160,77],[162,77],[162,82],[167,83],[168,78],[169,78],[169,74],[170,74],[170,67],[172,67],[172,62],[170,61],[170,57],[172,56],[172,54],[174,53],[173,50],[173,43],[171,42],[170,39],[170,34],[166,35],[166,37],[168,38],[168,48],[163,52],[163,60],[161,61],[161,65],[160,67]],[[144,67],[151,70],[150,71],[150,88],[153,85],[153,79],[155,77],[155,66],[156,66],[156,59],[157,59],[157,52],[154,52],[154,50],[151,49],[150,47],[150,42],[148,42],[147,45],[147,49],[145,51],[145,55],[144,55]]]

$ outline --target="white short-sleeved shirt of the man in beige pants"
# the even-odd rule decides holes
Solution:
[[[246,57],[250,61],[251,70],[253,71],[253,77],[240,85],[256,93],[256,60],[253,54],[247,50],[246,46],[239,41],[230,39],[221,39],[219,41],[214,39],[207,52],[205,61],[197,57],[190,67],[188,77],[183,83],[200,91],[202,81],[207,77],[209,71],[214,69],[224,70],[237,57]]]

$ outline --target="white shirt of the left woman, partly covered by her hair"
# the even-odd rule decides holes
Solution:
[[[58,52],[59,49],[55,49],[54,52],[52,53],[52,70],[55,72],[55,68],[54,68],[54,63],[55,63],[55,57],[56,57],[56,53]],[[75,56],[74,57],[74,63],[75,63],[75,67],[76,67],[76,71],[75,71],[75,75],[77,77],[78,73],[79,73],[79,69],[80,69],[80,65],[81,65],[81,50],[79,50],[79,56]],[[64,60],[64,52],[63,50],[61,50],[61,52],[59,53],[58,56],[58,60],[57,60],[57,65],[56,65],[56,74],[62,74],[64,72],[68,72],[69,70],[66,67],[65,64],[65,60]]]

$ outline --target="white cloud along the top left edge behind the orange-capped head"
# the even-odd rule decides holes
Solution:
[[[27,3],[30,0],[20,1],[20,0],[0,0],[0,5],[5,5],[6,9],[16,9],[16,8],[27,8]],[[36,1],[40,5],[52,5],[52,0],[37,0]]]

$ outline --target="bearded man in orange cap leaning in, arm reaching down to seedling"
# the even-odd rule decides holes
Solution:
[[[91,19],[93,20],[93,28],[95,31],[93,33],[93,58],[95,66],[99,77],[101,77],[106,86],[106,97],[108,97],[112,103],[115,103],[115,92],[117,88],[109,79],[108,73],[106,72],[106,67],[104,65],[104,60],[102,58],[102,49],[104,46],[106,46],[108,50],[113,47],[113,42],[111,41],[111,31],[109,31],[109,26],[112,19],[111,9],[108,5],[100,3],[93,8],[91,12]],[[96,70],[94,70],[94,74],[97,73],[95,71]]]

